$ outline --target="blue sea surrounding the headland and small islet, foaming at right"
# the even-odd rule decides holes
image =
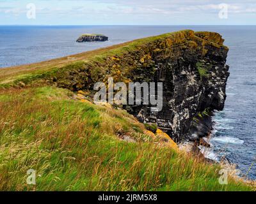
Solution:
[[[256,26],[0,26],[0,68],[45,61],[157,34],[193,29],[216,31],[230,48],[225,110],[217,113],[213,151],[256,179]],[[109,41],[76,43],[83,33]],[[250,168],[252,167],[252,168]],[[248,171],[250,169],[250,171]]]

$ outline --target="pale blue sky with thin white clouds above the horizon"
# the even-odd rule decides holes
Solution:
[[[256,0],[0,0],[0,25],[255,25]]]

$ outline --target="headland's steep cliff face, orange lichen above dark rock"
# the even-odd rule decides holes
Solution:
[[[150,105],[124,108],[141,122],[157,123],[175,140],[191,135],[200,112],[222,110],[228,48],[218,33],[186,30],[132,41],[49,75],[48,82],[72,91],[92,90],[95,82],[163,82],[163,110]]]

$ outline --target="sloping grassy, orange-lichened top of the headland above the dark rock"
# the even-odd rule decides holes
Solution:
[[[45,80],[52,80],[53,77],[64,81],[67,72],[74,75],[74,72],[86,71],[95,81],[104,79],[100,77],[108,75],[109,72],[112,75],[119,72],[123,76],[129,75],[131,68],[137,68],[138,63],[143,64],[144,67],[150,64],[150,55],[159,52],[172,52],[177,47],[195,49],[197,52],[202,52],[202,55],[207,54],[205,48],[207,46],[228,49],[223,45],[223,41],[220,43],[220,40],[220,34],[211,32],[195,33],[185,30],[166,33],[51,61],[0,69],[0,87],[17,85],[19,82],[25,84],[31,84],[38,80],[45,82]],[[134,58],[134,55],[137,55],[138,59]],[[115,66],[121,62],[124,64],[122,68]],[[122,79],[127,80],[127,78]],[[63,83],[61,86],[65,86],[65,82]],[[81,82],[79,83],[81,85]],[[84,79],[82,83],[84,83]],[[79,89],[79,85],[77,89]]]

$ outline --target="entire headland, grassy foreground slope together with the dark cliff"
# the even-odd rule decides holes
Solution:
[[[232,173],[221,185],[223,166],[177,147],[222,110],[227,53],[220,34],[186,30],[0,69],[0,190],[251,191]],[[93,104],[109,77],[163,82],[163,110]]]

